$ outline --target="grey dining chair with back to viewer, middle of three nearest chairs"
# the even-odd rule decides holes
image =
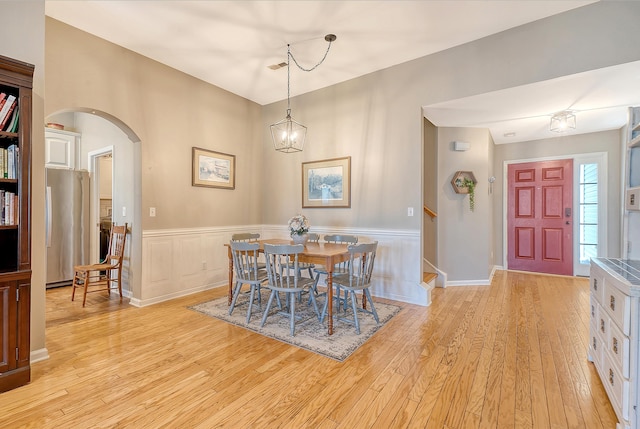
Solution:
[[[298,256],[304,251],[302,244],[267,244],[264,245],[264,255],[267,260],[267,277],[268,283],[266,287],[271,289],[267,307],[262,315],[260,327],[263,327],[273,299],[278,297],[282,292],[286,295],[285,303],[289,313],[280,313],[290,318],[291,336],[295,335],[296,320],[296,297],[300,292],[309,291],[313,287],[313,279],[300,276]],[[313,309],[320,320],[320,313],[314,294],[310,293]],[[282,309],[282,304],[278,300],[278,308]]]

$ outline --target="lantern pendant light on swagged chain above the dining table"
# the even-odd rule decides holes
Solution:
[[[322,64],[327,58],[329,49],[331,49],[331,42],[336,40],[335,34],[327,34],[324,36],[324,40],[329,42],[327,51],[324,53],[322,59],[315,66],[305,69],[298,64],[295,57],[291,53],[291,45],[287,44],[287,116],[275,124],[271,125],[271,138],[273,139],[273,147],[279,152],[300,152],[304,148],[304,141],[307,137],[307,127],[294,120],[291,117],[291,60],[302,71],[310,72],[315,70],[320,64]]]

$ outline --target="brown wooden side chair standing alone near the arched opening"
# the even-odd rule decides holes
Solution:
[[[73,267],[73,292],[71,301],[75,299],[76,288],[83,288],[82,306],[87,302],[87,293],[117,290],[122,302],[122,260],[127,241],[127,224],[111,225],[107,256],[97,264],[76,265]],[[92,288],[89,290],[89,288]],[[93,289],[97,287],[97,289]]]

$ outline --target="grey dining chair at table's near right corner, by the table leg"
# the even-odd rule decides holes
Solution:
[[[338,320],[353,323],[356,326],[356,334],[360,334],[360,323],[358,322],[358,312],[364,312],[373,315],[376,323],[380,323],[378,318],[378,312],[371,299],[371,273],[373,272],[373,264],[376,260],[376,251],[378,248],[378,242],[351,244],[348,247],[349,250],[349,268],[348,273],[338,274],[333,277],[333,284],[339,285],[348,293],[348,299],[351,300],[351,309],[353,310],[353,319],[347,319],[346,317],[339,317]],[[361,307],[358,306],[358,300],[356,292],[362,291],[362,299],[369,301],[371,306],[370,310],[366,309],[365,302]],[[347,299],[347,300],[348,300]],[[345,313],[346,305],[345,304]],[[327,302],[325,301],[322,308],[322,315],[320,320],[324,321],[327,314]]]

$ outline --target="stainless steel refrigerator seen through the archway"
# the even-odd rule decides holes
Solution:
[[[70,285],[89,263],[89,173],[46,169],[47,288]]]

